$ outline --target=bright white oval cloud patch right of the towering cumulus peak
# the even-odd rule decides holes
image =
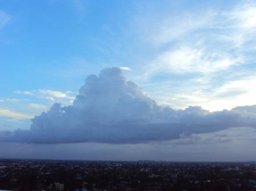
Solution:
[[[154,72],[210,73],[228,69],[240,62],[242,62],[241,58],[233,58],[229,54],[209,53],[203,49],[184,46],[160,54],[151,64],[151,69]]]

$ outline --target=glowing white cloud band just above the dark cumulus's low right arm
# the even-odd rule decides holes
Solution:
[[[174,99],[165,104],[175,105],[175,108],[186,108],[188,105],[200,105],[209,111],[222,111],[237,106],[256,104],[256,76],[228,81],[220,87],[202,87],[190,94],[174,94]],[[163,97],[163,100],[166,97]]]

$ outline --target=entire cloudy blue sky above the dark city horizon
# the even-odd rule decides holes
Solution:
[[[256,1],[0,0],[0,158],[256,160]]]

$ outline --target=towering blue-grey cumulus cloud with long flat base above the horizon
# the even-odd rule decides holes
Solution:
[[[32,119],[29,130],[2,131],[1,141],[31,143],[138,143],[209,133],[238,126],[256,127],[256,106],[209,112],[200,107],[174,110],[158,105],[118,67],[89,75],[73,105],[52,105]]]

